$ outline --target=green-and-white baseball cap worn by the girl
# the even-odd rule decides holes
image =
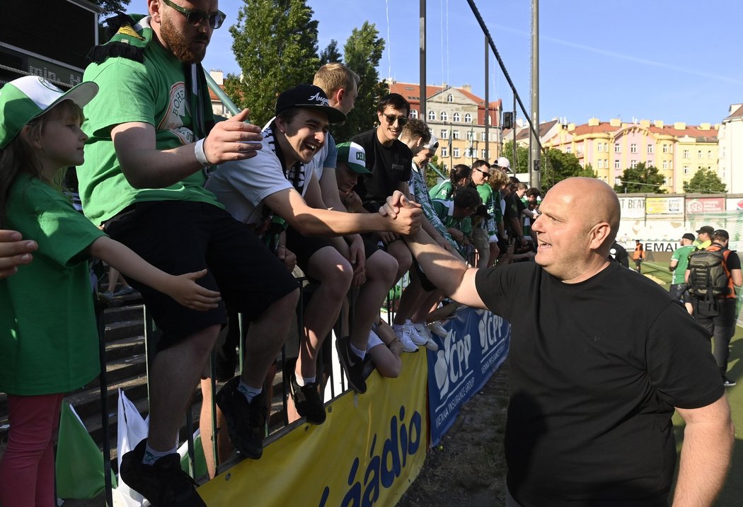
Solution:
[[[40,117],[63,100],[81,108],[98,93],[94,82],[81,82],[62,91],[39,76],[23,76],[0,88],[0,148],[5,148],[31,120]]]

